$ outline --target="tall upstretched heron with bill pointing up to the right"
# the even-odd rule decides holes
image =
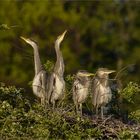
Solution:
[[[48,99],[53,104],[53,109],[57,100],[63,99],[65,91],[64,81],[64,60],[62,52],[60,51],[60,44],[64,39],[67,31],[64,31],[59,35],[55,41],[56,63],[54,65],[53,72],[49,78],[48,84]]]

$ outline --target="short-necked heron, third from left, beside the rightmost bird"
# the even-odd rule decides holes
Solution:
[[[90,86],[90,76],[93,76],[93,73],[89,73],[85,70],[80,70],[77,72],[75,80],[73,82],[72,92],[73,92],[73,101],[76,107],[76,113],[78,114],[80,110],[80,115],[82,116],[82,103],[85,102],[89,94]]]

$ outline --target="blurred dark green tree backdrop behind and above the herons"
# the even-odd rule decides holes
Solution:
[[[137,0],[1,0],[0,25],[0,81],[8,85],[28,88],[34,77],[33,50],[20,36],[38,42],[42,64],[54,63],[54,42],[64,30],[65,76],[126,67],[119,74],[123,84],[140,81]]]

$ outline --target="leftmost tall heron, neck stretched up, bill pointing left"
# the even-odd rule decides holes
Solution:
[[[47,89],[47,72],[41,64],[38,44],[29,38],[25,38],[22,36],[20,38],[24,40],[27,44],[29,44],[34,50],[35,76],[32,82],[32,89],[33,93],[41,99],[41,104],[45,105]]]

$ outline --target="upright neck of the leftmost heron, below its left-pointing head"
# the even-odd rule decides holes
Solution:
[[[34,48],[34,63],[35,63],[35,74],[37,75],[41,71],[41,61],[38,52],[38,46],[36,45]]]

